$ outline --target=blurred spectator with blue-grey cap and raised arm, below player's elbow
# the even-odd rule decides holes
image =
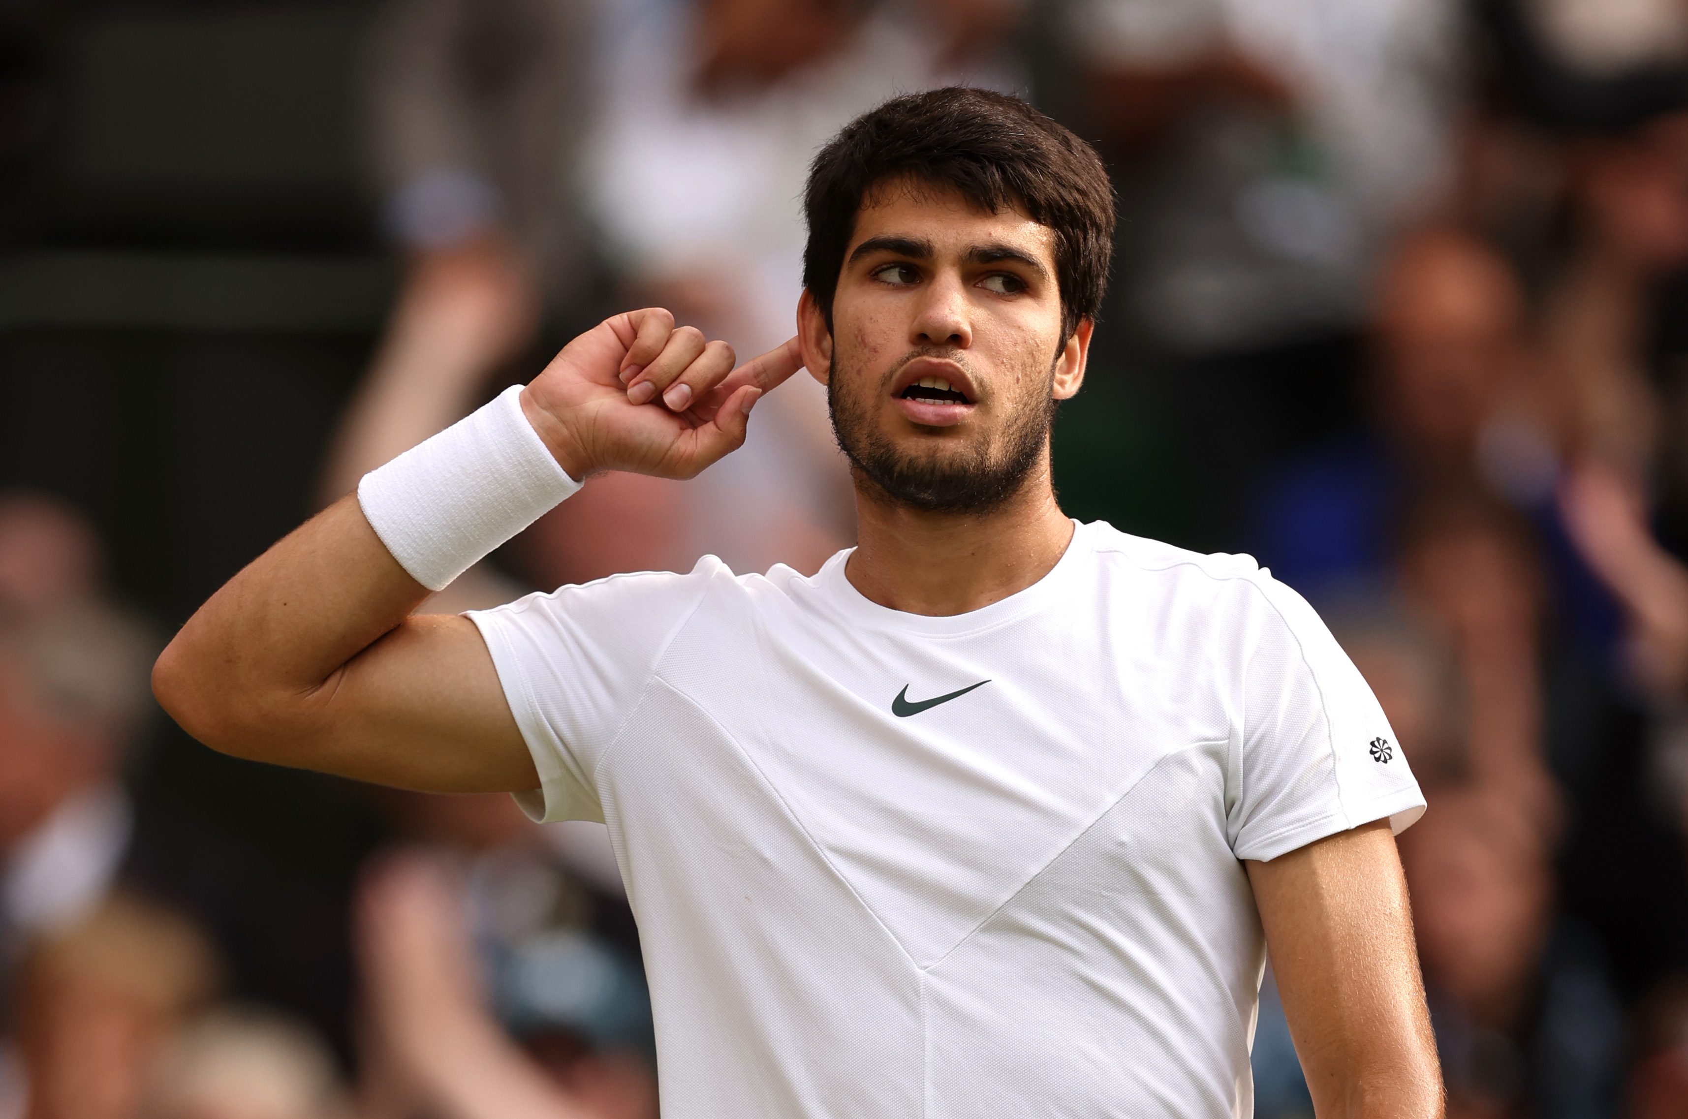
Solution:
[[[471,938],[473,893],[447,862],[415,851],[371,869],[358,930],[368,1050],[363,1112],[653,1117],[652,1065],[626,1048],[650,1021],[636,974],[581,932],[559,930],[506,957],[515,982],[500,984],[496,970],[483,974]],[[506,895],[506,901],[532,908],[535,898]],[[527,1016],[525,1048],[493,1013],[500,991],[506,1013],[513,1001],[518,1018]]]

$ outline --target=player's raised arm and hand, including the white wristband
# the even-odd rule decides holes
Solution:
[[[756,395],[798,365],[790,346],[733,376],[731,361],[663,311],[604,321],[231,579],[159,658],[159,702],[243,758],[427,792],[537,788],[474,623],[412,611],[596,469],[690,478],[738,447]],[[682,387],[684,412],[657,403]]]

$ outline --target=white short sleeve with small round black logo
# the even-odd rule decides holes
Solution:
[[[1381,819],[1401,832],[1425,797],[1377,697],[1300,594],[1251,582],[1232,851],[1268,861]]]

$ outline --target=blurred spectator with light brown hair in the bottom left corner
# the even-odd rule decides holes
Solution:
[[[15,999],[27,1119],[133,1119],[172,1031],[218,981],[197,928],[122,893],[39,937]]]

